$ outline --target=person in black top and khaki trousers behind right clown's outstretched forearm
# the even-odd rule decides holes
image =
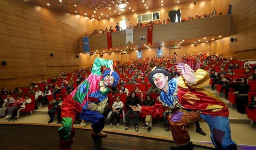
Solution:
[[[153,106],[156,103],[156,101],[151,97],[150,94],[146,95],[146,99],[143,100],[142,106]],[[148,132],[151,131],[152,128],[152,116],[151,115],[146,115],[145,118],[146,123],[144,124],[143,128],[148,129]]]

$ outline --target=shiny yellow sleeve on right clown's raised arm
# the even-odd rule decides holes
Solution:
[[[196,82],[188,84],[182,76],[178,78],[178,86],[182,88],[202,88],[209,84],[210,75],[207,71],[198,69],[195,72]]]

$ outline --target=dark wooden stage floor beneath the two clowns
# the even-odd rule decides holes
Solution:
[[[58,127],[0,125],[1,150],[58,150]],[[95,138],[90,130],[76,129],[72,150],[170,150],[170,141],[108,133]],[[195,146],[194,150],[213,150]]]

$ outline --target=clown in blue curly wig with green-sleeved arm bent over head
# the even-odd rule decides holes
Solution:
[[[106,66],[102,76],[101,67]],[[106,136],[101,130],[104,128],[104,116],[102,115],[108,100],[107,86],[116,86],[119,76],[113,69],[112,60],[96,58],[92,66],[92,73],[62,103],[62,127],[58,129],[60,136],[59,146],[62,150],[70,150],[72,137],[74,136],[73,123],[76,115],[82,120],[93,122],[92,135]]]

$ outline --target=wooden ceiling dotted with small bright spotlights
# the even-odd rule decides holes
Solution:
[[[85,15],[93,18],[110,18],[120,14],[138,13],[151,9],[185,4],[195,0],[24,0],[60,12]],[[50,4],[49,6],[47,4]],[[161,6],[163,5],[163,6]],[[124,8],[121,9],[120,6]],[[120,13],[120,14],[119,14]]]

